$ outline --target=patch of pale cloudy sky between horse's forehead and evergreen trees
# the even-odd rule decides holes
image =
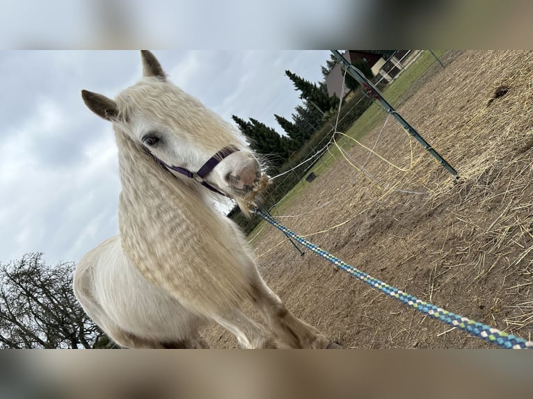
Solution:
[[[328,57],[328,51],[194,51],[170,75],[228,122],[231,115],[253,117],[283,133],[273,114],[290,119],[301,104],[285,70],[320,81]]]

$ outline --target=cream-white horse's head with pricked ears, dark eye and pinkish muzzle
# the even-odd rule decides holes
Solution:
[[[83,90],[85,104],[177,170],[198,172],[221,149],[238,149],[225,156],[205,176],[205,181],[237,199],[241,209],[246,210],[247,202],[266,186],[268,178],[262,175],[260,164],[241,133],[168,81],[150,51],[141,51],[141,58],[143,79],[114,100]]]

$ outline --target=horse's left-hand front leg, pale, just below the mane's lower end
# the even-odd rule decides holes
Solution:
[[[213,319],[237,337],[241,348],[278,348],[278,343],[273,334],[262,325],[248,318],[240,309],[234,309],[224,316],[215,316]]]

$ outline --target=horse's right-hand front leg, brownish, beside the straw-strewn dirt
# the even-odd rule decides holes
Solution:
[[[318,329],[296,318],[259,274],[253,283],[252,298],[264,319],[292,348],[342,349]]]

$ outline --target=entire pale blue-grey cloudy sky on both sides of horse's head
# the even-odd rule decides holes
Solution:
[[[322,79],[329,51],[154,51],[169,78],[232,122],[281,133],[301,104],[285,70]],[[43,252],[77,262],[118,234],[117,149],[111,124],[82,89],[115,97],[141,78],[138,51],[0,51],[0,262]],[[232,122],[233,123],[233,122]]]

